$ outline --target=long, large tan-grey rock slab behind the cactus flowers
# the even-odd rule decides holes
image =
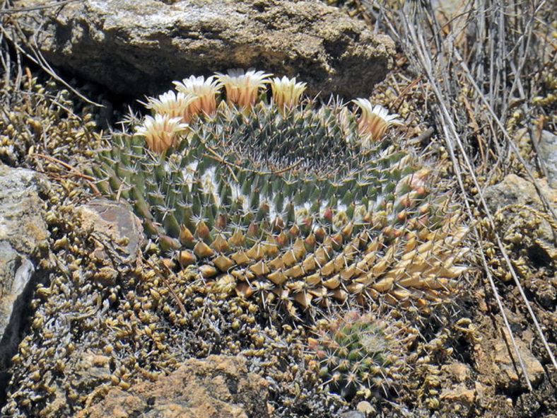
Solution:
[[[51,3],[19,0],[13,8]],[[394,54],[390,37],[317,0],[86,0],[13,18],[50,63],[136,97],[237,67],[299,76],[323,98],[366,97]]]

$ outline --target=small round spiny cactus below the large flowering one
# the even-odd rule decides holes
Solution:
[[[308,341],[325,390],[346,399],[369,397],[378,389],[387,393],[404,371],[402,348],[408,342],[396,337],[403,329],[356,311],[329,321]]]

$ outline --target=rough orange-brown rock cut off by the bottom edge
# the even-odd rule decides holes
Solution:
[[[189,359],[156,382],[113,388],[76,418],[264,418],[267,397],[266,381],[247,373],[243,357],[209,356]]]

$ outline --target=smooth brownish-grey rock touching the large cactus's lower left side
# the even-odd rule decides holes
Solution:
[[[93,255],[102,260],[95,279],[106,285],[115,283],[118,267],[141,262],[143,227],[137,216],[125,204],[108,199],[93,199],[78,207],[81,226],[92,230],[96,248]]]

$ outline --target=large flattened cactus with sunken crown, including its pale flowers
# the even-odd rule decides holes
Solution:
[[[365,99],[319,105],[304,83],[269,76],[192,76],[148,99],[153,117],[98,153],[99,189],[131,202],[182,268],[241,296],[291,312],[445,301],[467,229],[432,170],[383,138],[401,121]]]

